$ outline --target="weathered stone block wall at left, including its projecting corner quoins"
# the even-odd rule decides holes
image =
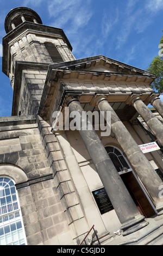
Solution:
[[[26,115],[1,118],[0,131],[1,166],[27,176],[16,188],[28,245],[79,244],[89,227],[51,127]]]

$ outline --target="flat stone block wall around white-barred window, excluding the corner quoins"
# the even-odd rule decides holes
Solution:
[[[55,152],[53,157],[47,153],[42,145],[47,127],[39,128],[32,115],[0,119],[0,174],[16,181],[28,245],[70,245],[73,239],[50,164]]]

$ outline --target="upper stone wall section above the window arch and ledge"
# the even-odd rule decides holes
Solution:
[[[0,131],[1,163],[16,164],[28,179],[51,172],[34,116],[3,118]]]

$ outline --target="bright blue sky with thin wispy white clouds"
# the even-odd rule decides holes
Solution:
[[[4,20],[28,7],[43,25],[62,28],[76,59],[102,54],[146,70],[159,54],[163,0],[0,0],[0,116],[10,116],[12,88],[2,72]],[[161,96],[163,101],[163,96]]]

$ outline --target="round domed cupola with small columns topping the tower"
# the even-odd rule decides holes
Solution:
[[[27,7],[17,7],[11,9],[5,18],[5,32],[9,33],[24,21],[42,24],[40,16],[34,10]]]

